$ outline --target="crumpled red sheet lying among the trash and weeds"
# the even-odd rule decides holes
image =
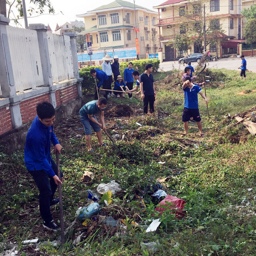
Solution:
[[[174,211],[176,213],[176,218],[181,219],[185,215],[185,211],[182,211],[182,209],[184,208],[184,205],[185,205],[185,201],[183,199],[180,199],[180,198],[175,197],[175,196],[167,195],[167,197],[165,199],[163,199],[159,203],[159,205],[160,206],[161,205],[167,206],[166,201],[173,203],[172,206],[169,206],[169,209],[175,209],[176,210],[176,211]],[[166,211],[166,209],[164,209],[160,206],[156,207],[156,211],[158,211],[158,212]],[[172,212],[172,213],[174,213],[174,212]]]

